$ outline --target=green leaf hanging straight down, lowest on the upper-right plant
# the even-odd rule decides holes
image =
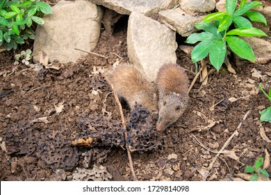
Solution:
[[[222,39],[216,40],[210,47],[209,57],[211,64],[217,72],[220,70],[227,53],[226,42]]]

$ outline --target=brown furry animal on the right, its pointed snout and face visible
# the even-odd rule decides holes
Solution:
[[[159,93],[156,128],[163,131],[181,117],[188,105],[188,77],[179,65],[167,63],[158,71],[156,84]]]

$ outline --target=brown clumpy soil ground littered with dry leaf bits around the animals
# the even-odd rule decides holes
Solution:
[[[104,78],[114,64],[129,61],[122,26],[117,22],[112,36],[101,33],[94,52],[106,59],[89,54],[76,63],[54,62],[59,70],[37,71],[22,64],[15,68],[14,55],[20,51],[0,53],[1,180],[133,180],[120,111]],[[176,54],[191,83],[195,65],[180,49]],[[260,83],[265,91],[271,88],[271,63],[236,65],[232,60],[236,75],[224,67],[209,75],[206,86],[197,80],[188,109],[161,134],[134,139],[141,130],[131,125],[134,116],[144,115],[140,123],[145,130],[154,121],[145,118],[144,108],[131,113],[123,102],[138,180],[232,180],[246,165],[265,157],[265,149],[271,152],[260,134],[262,129],[271,139],[271,124],[259,120],[259,111],[270,102],[258,90]],[[256,71],[259,77],[252,76]],[[227,153],[213,162],[236,130]],[[78,141],[85,144],[73,144]]]

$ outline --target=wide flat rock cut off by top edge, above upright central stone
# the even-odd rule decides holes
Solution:
[[[138,12],[145,15],[174,6],[178,0],[88,0],[97,5],[105,6],[122,15]]]

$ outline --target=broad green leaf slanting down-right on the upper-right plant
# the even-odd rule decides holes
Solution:
[[[245,42],[245,40],[236,36],[226,36],[226,40],[231,50],[238,56],[252,62],[256,61],[252,48],[247,42]]]

